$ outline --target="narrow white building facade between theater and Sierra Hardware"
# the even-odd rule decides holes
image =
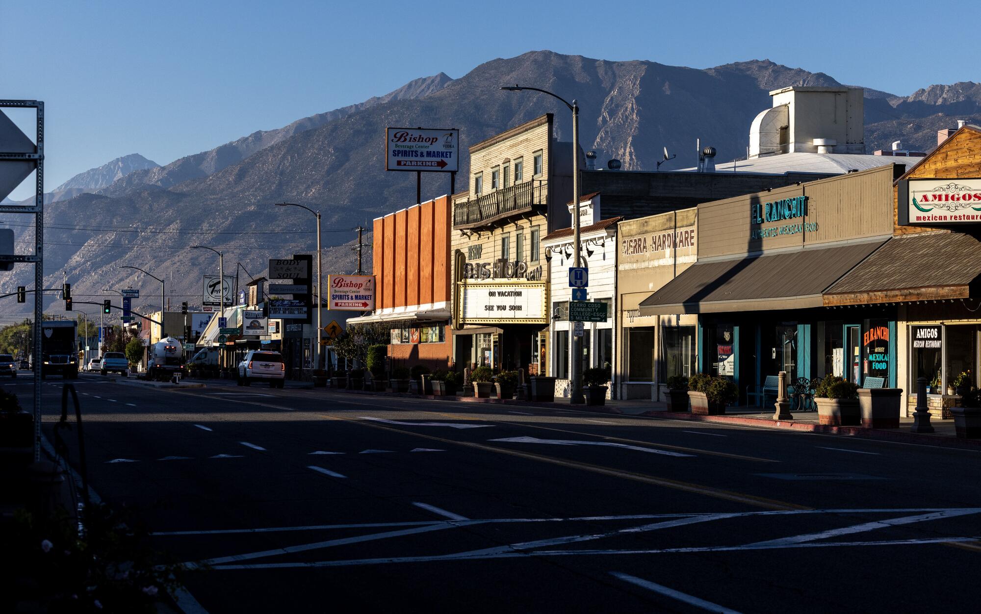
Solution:
[[[570,211],[572,205],[569,205]],[[599,194],[582,198],[580,254],[582,266],[589,269],[587,300],[606,303],[606,322],[583,323],[583,369],[603,367],[613,372],[616,356],[616,279],[617,222],[619,218],[599,220]],[[548,263],[548,300],[551,323],[548,328],[548,375],[555,378],[555,396],[568,397],[573,360],[571,341],[574,324],[569,321],[569,268],[575,266],[572,229],[555,230],[542,239]],[[610,385],[607,397],[613,386]]]

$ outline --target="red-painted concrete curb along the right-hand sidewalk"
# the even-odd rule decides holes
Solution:
[[[920,435],[909,433],[900,429],[865,429],[863,427],[834,427],[830,425],[818,425],[811,422],[797,422],[794,420],[766,420],[760,418],[744,418],[742,416],[702,416],[697,414],[680,412],[649,411],[641,414],[647,418],[660,418],[662,420],[690,420],[693,422],[714,422],[719,424],[740,425],[744,427],[757,427],[760,429],[779,429],[784,431],[800,431],[802,433],[817,433],[820,435],[841,435],[847,437],[859,437],[863,439],[876,439],[880,441],[898,441],[901,443],[917,443],[919,445],[933,445],[937,447],[955,447],[964,450],[981,451],[981,439],[958,439],[955,437],[943,437],[937,435]]]

